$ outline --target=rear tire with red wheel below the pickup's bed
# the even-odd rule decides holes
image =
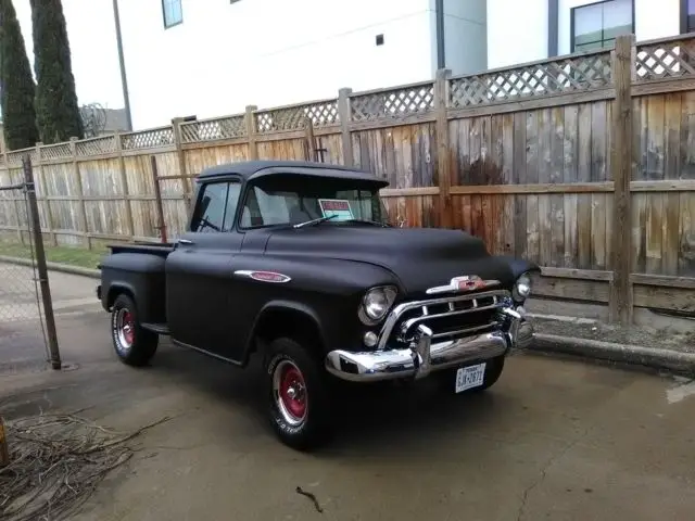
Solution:
[[[135,302],[122,293],[111,309],[111,340],[121,361],[141,367],[154,356],[160,335],[142,329]]]

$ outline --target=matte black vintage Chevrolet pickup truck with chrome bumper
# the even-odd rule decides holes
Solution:
[[[490,387],[533,339],[539,267],[460,230],[390,226],[387,186],[321,163],[204,170],[175,244],[112,245],[100,264],[117,356],[146,365],[160,335],[241,367],[260,354],[271,423],[301,449],[331,432],[338,380]]]

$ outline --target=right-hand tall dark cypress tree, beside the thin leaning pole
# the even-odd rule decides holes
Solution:
[[[45,143],[83,138],[61,0],[31,0],[36,123]]]

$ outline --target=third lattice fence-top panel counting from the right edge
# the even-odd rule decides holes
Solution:
[[[353,122],[421,114],[434,109],[434,84],[410,85],[392,90],[366,92],[350,98]]]

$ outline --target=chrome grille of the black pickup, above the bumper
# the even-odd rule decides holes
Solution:
[[[508,306],[509,300],[508,291],[498,290],[400,304],[384,322],[378,348],[389,341],[408,342],[420,323],[432,330],[432,340],[495,328],[502,323],[498,310]]]

